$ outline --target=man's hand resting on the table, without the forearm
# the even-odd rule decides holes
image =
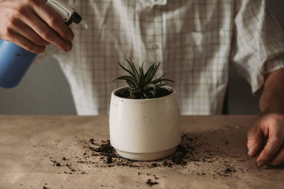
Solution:
[[[251,157],[258,154],[257,166],[278,166],[284,163],[283,142],[284,114],[263,115],[248,132],[248,154]]]

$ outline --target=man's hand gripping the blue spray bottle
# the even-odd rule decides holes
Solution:
[[[72,49],[72,30],[46,0],[0,0],[0,38],[26,50],[40,53],[52,43]]]

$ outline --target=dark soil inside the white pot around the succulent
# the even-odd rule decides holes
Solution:
[[[165,88],[157,88],[156,90],[156,93],[155,93],[155,96],[153,96],[153,94],[151,93],[147,93],[147,96],[149,98],[160,98],[160,97],[163,97],[163,96],[168,96],[170,93],[173,93],[173,91],[169,91],[168,89],[165,89]],[[121,92],[118,92],[116,94],[117,96],[119,97],[122,97],[122,98],[132,98],[130,96],[130,92],[129,91],[121,91]],[[138,94],[136,95],[136,99],[143,99],[145,98],[144,96],[138,96]]]

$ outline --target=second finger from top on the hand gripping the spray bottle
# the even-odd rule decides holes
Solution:
[[[25,10],[24,10],[25,11]],[[52,28],[43,22],[33,11],[22,13],[23,21],[31,27],[35,33],[38,33],[41,38],[58,46],[61,50],[69,51],[72,49],[72,43],[60,38]]]

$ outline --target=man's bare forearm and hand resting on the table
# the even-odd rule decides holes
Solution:
[[[259,101],[261,118],[248,132],[249,156],[258,156],[257,166],[284,163],[284,69],[266,77]]]

